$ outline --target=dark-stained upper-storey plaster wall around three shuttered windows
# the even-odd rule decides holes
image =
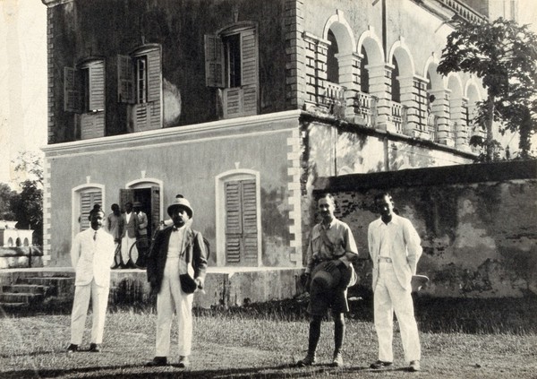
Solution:
[[[260,113],[285,110],[284,0],[74,0],[49,9],[49,85],[54,134],[73,141],[72,113],[64,112],[64,66],[88,56],[105,58],[107,135],[124,134],[124,104],[117,102],[117,55],[146,43],[162,47],[165,126],[217,120],[217,92],[205,84],[204,35],[237,21],[256,22],[259,35]]]

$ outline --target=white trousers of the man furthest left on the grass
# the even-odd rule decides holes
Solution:
[[[82,335],[86,326],[88,306],[90,306],[90,297],[93,313],[91,342],[103,342],[109,292],[110,287],[98,286],[95,284],[95,280],[91,280],[90,284],[84,286],[75,286],[71,313],[71,343],[73,345],[81,345]]]

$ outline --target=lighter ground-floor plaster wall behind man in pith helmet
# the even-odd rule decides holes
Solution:
[[[230,124],[231,125],[231,124]],[[72,241],[72,190],[78,186],[103,185],[103,207],[119,202],[119,190],[133,180],[144,177],[163,182],[161,202],[166,207],[175,194],[183,194],[194,209],[193,228],[200,230],[211,245],[211,264],[216,252],[216,209],[224,207],[215,201],[215,178],[236,168],[260,173],[260,206],[262,264],[295,266],[290,262],[288,203],[288,139],[296,133],[298,121],[289,118],[279,124],[256,122],[241,127],[209,127],[174,134],[154,131],[152,136],[131,134],[125,141],[120,136],[107,142],[78,142],[55,145],[47,151],[50,164],[51,263],[70,265]],[[261,138],[262,136],[262,138]],[[58,149],[57,151],[55,149]],[[89,177],[89,178],[88,178]],[[75,224],[76,226],[76,224]]]

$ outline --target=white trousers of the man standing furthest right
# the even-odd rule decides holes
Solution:
[[[393,362],[392,341],[394,311],[401,331],[407,362],[420,360],[422,348],[418,326],[413,314],[411,290],[405,290],[396,278],[392,263],[379,263],[379,280],[374,294],[375,329],[379,339],[379,359]]]

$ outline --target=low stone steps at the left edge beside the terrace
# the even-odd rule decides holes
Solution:
[[[73,287],[74,278],[70,276],[19,277],[14,283],[2,284],[0,309],[24,310],[72,299]]]

